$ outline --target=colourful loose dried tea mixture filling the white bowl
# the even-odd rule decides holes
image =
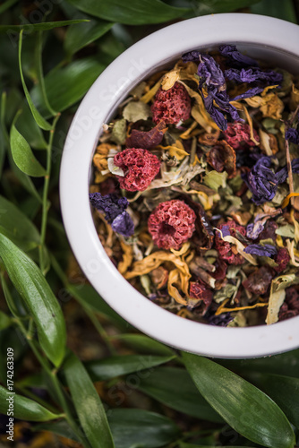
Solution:
[[[149,300],[221,326],[299,314],[298,105],[298,77],[224,45],[141,82],[104,125],[98,237]]]

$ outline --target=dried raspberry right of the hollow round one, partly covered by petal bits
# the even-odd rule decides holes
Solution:
[[[239,226],[235,223],[235,221],[227,221],[219,226],[219,229],[222,230],[223,236],[226,237],[230,235],[231,237],[236,237],[235,232],[240,232],[243,236],[246,234],[246,229],[243,226]],[[234,254],[232,252],[232,247],[230,243],[227,241],[223,241],[219,232],[216,233],[215,236],[215,246],[218,250],[219,257],[223,260],[226,260],[229,264],[243,264],[244,258],[241,254]]]

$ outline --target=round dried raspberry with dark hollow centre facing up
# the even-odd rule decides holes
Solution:
[[[183,201],[161,202],[149,215],[149,233],[154,243],[163,249],[179,249],[195,229],[194,211]]]

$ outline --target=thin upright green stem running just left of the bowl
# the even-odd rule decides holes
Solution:
[[[38,246],[38,254],[39,254],[39,267],[43,274],[46,274],[47,266],[45,261],[45,240],[46,240],[46,231],[47,231],[47,212],[49,209],[49,202],[47,201],[47,194],[49,190],[50,184],[50,175],[51,175],[51,155],[52,155],[52,145],[53,138],[56,129],[56,123],[58,121],[60,114],[58,113],[53,120],[53,129],[50,131],[49,141],[47,144],[47,174],[45,176],[43,197],[42,197],[42,218],[41,218],[41,228],[40,228],[40,243]]]

